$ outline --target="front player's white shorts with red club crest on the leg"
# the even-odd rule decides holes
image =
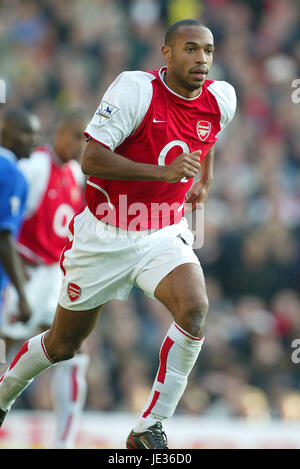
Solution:
[[[127,231],[99,221],[86,207],[74,218],[72,239],[61,256],[59,303],[89,310],[126,300],[134,285],[154,298],[159,282],[175,267],[194,263],[193,234],[183,218],[160,230]]]

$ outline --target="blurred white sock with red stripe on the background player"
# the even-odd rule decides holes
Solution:
[[[86,398],[89,356],[80,353],[58,363],[53,375],[53,404],[56,417],[54,448],[73,449]]]

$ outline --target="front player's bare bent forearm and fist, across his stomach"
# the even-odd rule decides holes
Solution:
[[[176,182],[196,175],[200,168],[200,154],[201,151],[181,153],[171,164],[158,166],[131,161],[90,140],[81,168],[84,174],[104,179]]]

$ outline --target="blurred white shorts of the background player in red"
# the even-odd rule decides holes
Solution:
[[[32,316],[27,323],[15,321],[18,311],[18,294],[13,285],[8,285],[3,295],[2,321],[0,332],[11,339],[25,339],[39,326],[52,324],[59,292],[62,272],[59,263],[52,265],[26,266],[29,280],[24,286]]]

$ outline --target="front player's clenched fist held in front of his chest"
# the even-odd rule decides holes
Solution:
[[[177,182],[186,177],[192,179],[200,168],[201,150],[181,153],[169,165],[164,167],[166,182]]]

